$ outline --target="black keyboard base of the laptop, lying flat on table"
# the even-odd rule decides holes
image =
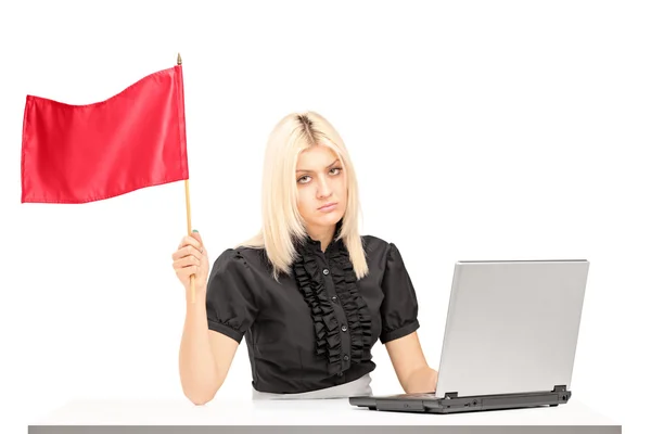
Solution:
[[[447,393],[443,398],[435,397],[434,394],[352,396],[348,401],[353,406],[366,407],[369,410],[445,414],[541,406],[557,407],[560,404],[566,404],[571,396],[572,393],[565,386],[556,386],[551,392],[475,396],[458,396],[457,393]]]

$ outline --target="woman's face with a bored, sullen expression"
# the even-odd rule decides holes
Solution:
[[[315,145],[298,155],[296,188],[298,212],[309,228],[336,225],[344,216],[348,200],[346,174],[330,148]]]

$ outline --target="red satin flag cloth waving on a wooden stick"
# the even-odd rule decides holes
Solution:
[[[181,65],[88,105],[27,95],[22,148],[22,203],[100,201],[188,179]]]

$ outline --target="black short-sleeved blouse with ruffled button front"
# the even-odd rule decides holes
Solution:
[[[418,302],[398,248],[365,235],[369,273],[357,280],[343,241],[308,238],[277,282],[263,248],[226,250],[208,278],[208,328],[246,335],[253,387],[302,393],[371,372],[371,347],[419,328]]]

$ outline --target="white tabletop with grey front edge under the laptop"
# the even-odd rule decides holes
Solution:
[[[622,433],[580,401],[558,407],[432,414],[372,411],[347,399],[76,400],[29,425],[29,434],[106,433]]]

